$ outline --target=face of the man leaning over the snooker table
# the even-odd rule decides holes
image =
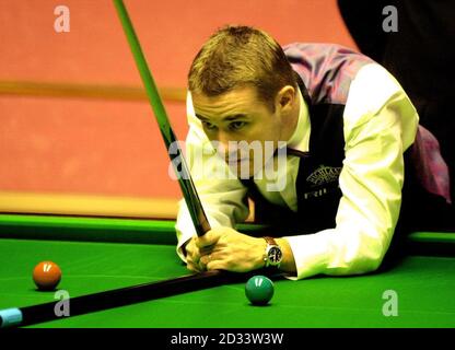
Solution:
[[[280,108],[272,113],[253,86],[213,97],[194,93],[192,104],[207,137],[218,141],[213,143],[218,143],[220,155],[237,173],[247,166],[253,176],[272,156],[281,140]]]

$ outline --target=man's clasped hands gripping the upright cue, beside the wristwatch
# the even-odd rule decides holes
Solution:
[[[200,265],[207,270],[247,272],[264,267],[267,243],[231,228],[217,228],[196,238]]]

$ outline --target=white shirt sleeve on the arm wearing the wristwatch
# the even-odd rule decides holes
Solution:
[[[373,271],[390,244],[401,203],[404,152],[416,137],[417,112],[384,68],[368,65],[351,83],[343,121],[336,228],[284,237],[296,264],[291,279]]]

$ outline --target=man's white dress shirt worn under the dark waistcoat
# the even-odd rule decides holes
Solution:
[[[311,124],[308,108],[300,95],[298,127],[288,140],[288,148],[307,152]],[[191,158],[209,140],[195,116],[191,96],[187,98],[189,131],[186,153],[191,176],[212,228],[243,222],[248,215],[246,188],[236,179],[210,176],[207,166],[195,166]],[[345,160],[339,177],[342,191],[336,228],[313,234],[284,236],[302,279],[315,275],[343,276],[373,271],[380,267],[397,223],[404,182],[402,153],[416,137],[419,117],[408,96],[384,68],[376,63],[362,67],[353,79],[343,113]],[[209,155],[207,155],[209,156]],[[219,163],[217,163],[219,162]],[[221,158],[210,166],[226,166]],[[298,210],[295,179],[300,159],[287,156],[285,171],[272,179],[255,179],[262,196],[272,203]],[[268,191],[270,180],[285,176],[285,187]],[[304,215],[302,217],[304,220]],[[182,245],[196,234],[184,200],[176,221],[177,254],[183,260]],[[279,234],[279,233],[278,233]]]

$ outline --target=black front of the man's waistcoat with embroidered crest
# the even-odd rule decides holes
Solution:
[[[339,175],[345,159],[345,105],[312,104],[307,90],[296,74],[299,88],[308,106],[311,136],[310,151],[288,149],[288,154],[300,158],[295,182],[298,212],[288,207],[270,203],[259,192],[253,179],[241,179],[255,202],[255,222],[272,228],[271,234],[307,234],[335,228],[335,218],[341,198]]]

